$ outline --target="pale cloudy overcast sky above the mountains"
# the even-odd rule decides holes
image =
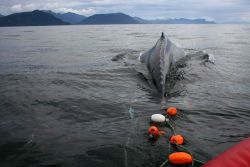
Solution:
[[[250,0],[0,0],[7,15],[35,9],[85,16],[123,12],[144,19],[205,18],[250,23]]]

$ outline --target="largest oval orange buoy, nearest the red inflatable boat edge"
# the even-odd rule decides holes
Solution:
[[[187,165],[192,163],[192,156],[186,152],[175,152],[168,156],[169,162],[174,165]]]

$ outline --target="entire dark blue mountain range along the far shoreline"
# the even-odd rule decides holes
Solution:
[[[95,14],[89,17],[75,13],[55,13],[53,11],[34,10],[32,12],[0,15],[0,26],[44,26],[71,24],[215,24],[205,19],[156,19],[145,20],[123,13]]]

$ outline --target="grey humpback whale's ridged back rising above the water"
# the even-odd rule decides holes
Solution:
[[[140,56],[140,62],[146,64],[153,83],[162,96],[165,96],[166,77],[170,67],[183,57],[184,50],[178,48],[163,32],[154,47]]]

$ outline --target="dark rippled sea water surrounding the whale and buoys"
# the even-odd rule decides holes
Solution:
[[[164,101],[137,60],[162,31],[189,55]],[[146,131],[167,106],[200,160],[249,137],[250,26],[0,28],[1,167],[159,166],[167,138],[152,145]]]

